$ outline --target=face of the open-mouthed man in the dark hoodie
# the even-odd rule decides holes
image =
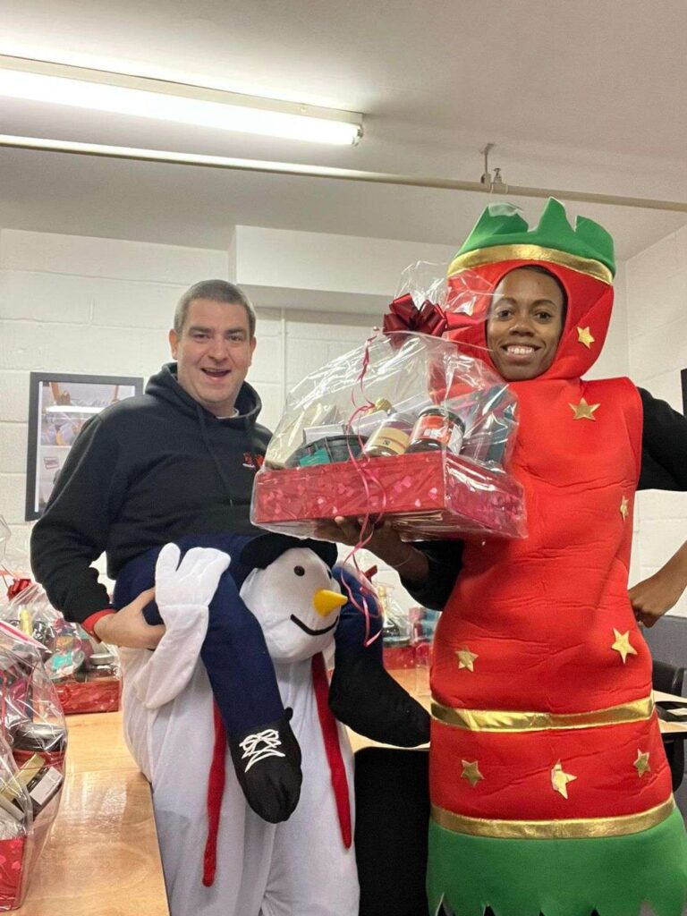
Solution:
[[[256,348],[238,302],[193,299],[181,333],[169,332],[179,384],[215,417],[230,417]]]

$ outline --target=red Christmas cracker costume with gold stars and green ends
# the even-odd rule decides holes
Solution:
[[[487,210],[449,270],[446,336],[493,366],[470,346],[500,280],[532,265],[567,314],[550,368],[510,384],[529,536],[465,544],[436,633],[431,913],[681,916],[687,841],[627,598],[641,404],[627,379],[581,377],[610,319],[610,237],[556,201],[534,230]]]

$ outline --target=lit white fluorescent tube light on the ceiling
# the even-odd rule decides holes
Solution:
[[[363,115],[0,55],[0,95],[294,140],[356,144]]]

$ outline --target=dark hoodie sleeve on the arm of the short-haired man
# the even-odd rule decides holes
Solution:
[[[110,607],[91,563],[105,549],[118,447],[99,417],[85,424],[31,532],[31,568],[50,603],[82,622]]]

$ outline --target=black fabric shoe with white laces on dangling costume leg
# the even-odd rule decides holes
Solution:
[[[269,823],[286,821],[300,798],[300,747],[291,731],[292,711],[257,732],[229,736],[229,750],[245,801]]]

